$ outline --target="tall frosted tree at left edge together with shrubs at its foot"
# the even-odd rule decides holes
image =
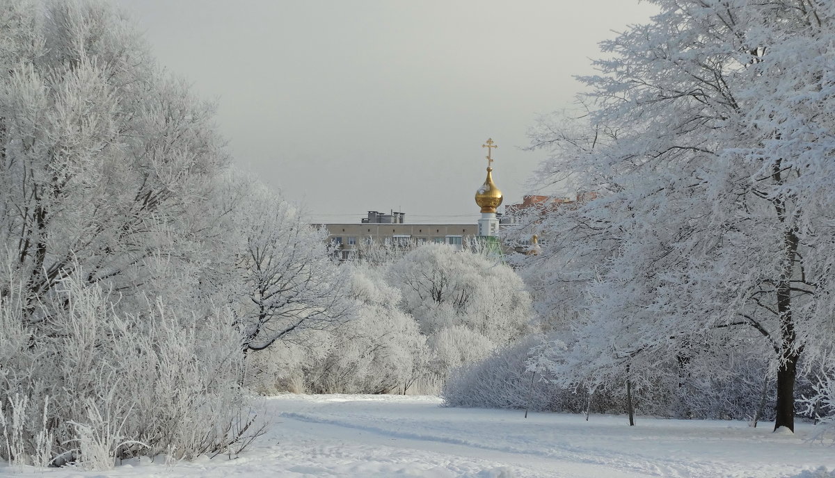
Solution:
[[[109,4],[0,0],[3,458],[108,467],[251,433],[212,114]]]

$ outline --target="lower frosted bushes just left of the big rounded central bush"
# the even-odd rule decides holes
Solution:
[[[266,353],[251,353],[264,393],[389,393],[426,374],[426,338],[397,309],[400,292],[369,264],[343,265],[352,315],[324,330],[306,330]]]

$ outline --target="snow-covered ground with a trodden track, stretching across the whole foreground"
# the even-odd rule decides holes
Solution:
[[[266,435],[239,458],[132,461],[108,472],[0,465],[46,478],[232,476],[471,478],[830,476],[835,447],[812,425],[774,434],[736,421],[524,413],[441,407],[432,396],[283,395],[265,400]],[[163,461],[163,462],[160,462]],[[835,476],[835,475],[833,475]]]

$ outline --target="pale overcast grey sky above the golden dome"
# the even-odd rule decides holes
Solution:
[[[313,222],[389,209],[475,222],[487,138],[504,204],[519,202],[544,158],[519,149],[526,130],[569,106],[597,43],[654,12],[636,0],[117,1],[160,63],[218,100],[238,164]]]

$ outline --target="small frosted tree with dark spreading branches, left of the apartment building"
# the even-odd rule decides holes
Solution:
[[[257,186],[238,211],[246,304],[237,326],[247,350],[348,318],[347,269],[331,260],[324,229],[306,224],[295,206]]]

